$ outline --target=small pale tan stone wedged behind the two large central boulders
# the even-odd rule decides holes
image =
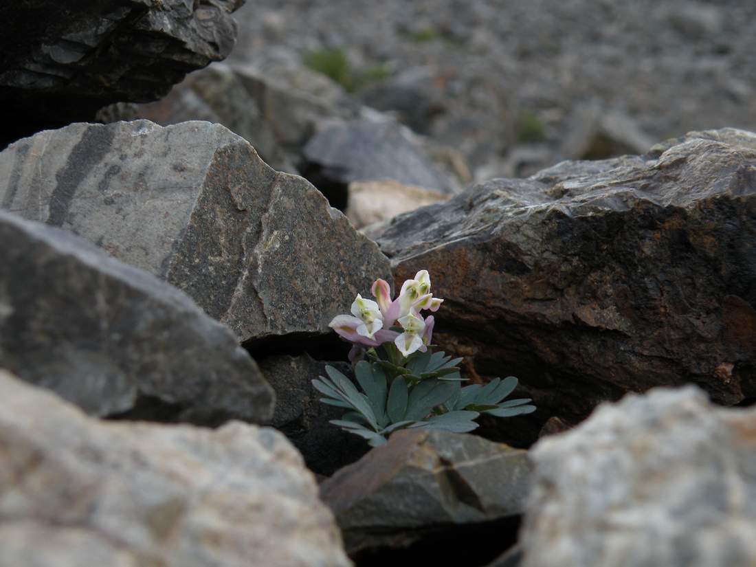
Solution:
[[[448,198],[438,191],[396,181],[354,181],[349,184],[344,214],[352,225],[362,228]]]

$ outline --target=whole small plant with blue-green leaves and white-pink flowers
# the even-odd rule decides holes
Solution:
[[[370,291],[374,301],[358,294],[352,314],[330,322],[352,343],[349,361],[361,390],[331,366],[327,377],[312,381],[324,404],[347,410],[330,423],[377,446],[398,429],[468,432],[478,427],[480,414],[512,417],[535,411],[529,398],[503,401],[517,386],[514,376],[462,387],[465,379],[457,366],[462,358],[432,352],[435,318],[423,317],[423,311],[438,311],[444,300],[433,297],[428,271],[406,280],[395,299],[385,280],[373,282]]]

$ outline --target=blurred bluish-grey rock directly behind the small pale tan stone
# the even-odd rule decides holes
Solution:
[[[323,129],[304,149],[305,175],[327,195],[352,181],[398,181],[426,189],[451,189],[420,149],[391,120],[354,120]]]

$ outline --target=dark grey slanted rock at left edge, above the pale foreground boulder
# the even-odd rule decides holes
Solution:
[[[184,293],[5,211],[0,242],[0,367],[98,416],[271,417],[255,362]]]

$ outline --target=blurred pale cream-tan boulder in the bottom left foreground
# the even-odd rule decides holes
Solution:
[[[347,567],[280,433],[104,423],[0,370],[0,564]]]

